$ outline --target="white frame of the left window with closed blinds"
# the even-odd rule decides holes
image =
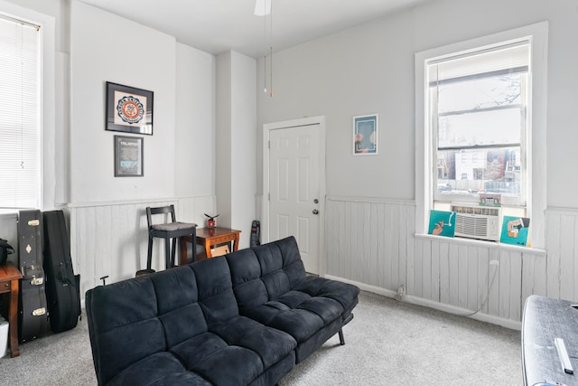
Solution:
[[[40,132],[40,159],[41,159],[41,184],[39,192],[39,206],[41,210],[54,207],[55,194],[57,192],[57,152],[56,152],[56,21],[48,14],[33,11],[20,5],[0,0],[0,12],[2,14],[21,19],[33,24],[39,24],[42,28],[41,38],[41,132]],[[61,61],[63,69],[64,60]],[[60,69],[61,69],[60,68]],[[64,73],[59,73],[59,79],[64,80]],[[61,92],[65,92],[61,90]],[[61,95],[59,95],[61,97]],[[62,100],[62,99],[61,99]],[[66,118],[62,112],[61,125],[65,125]],[[64,139],[64,138],[62,138]],[[60,146],[61,151],[68,151],[64,144]],[[64,175],[64,171],[61,171]],[[0,212],[17,212],[16,210],[5,210]]]

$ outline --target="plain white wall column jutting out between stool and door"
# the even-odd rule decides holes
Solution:
[[[223,52],[217,68],[217,224],[241,231],[239,248],[247,248],[256,219],[256,61]]]

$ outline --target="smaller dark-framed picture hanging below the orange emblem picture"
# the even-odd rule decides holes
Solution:
[[[115,177],[142,177],[143,137],[115,136]]]

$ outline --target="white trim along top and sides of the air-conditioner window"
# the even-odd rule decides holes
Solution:
[[[454,52],[475,51],[479,47],[529,38],[532,79],[531,107],[527,135],[527,216],[532,219],[532,246],[545,246],[546,208],[546,75],[548,22],[531,24],[503,33],[494,33],[465,42],[415,53],[415,231],[427,233],[429,211],[433,209],[433,138],[427,122],[426,61]]]

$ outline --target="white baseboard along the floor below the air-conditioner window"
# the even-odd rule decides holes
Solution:
[[[386,289],[386,288],[382,288],[382,287],[376,287],[376,286],[370,286],[368,284],[365,283],[359,283],[357,281],[353,281],[347,278],[338,278],[335,276],[331,276],[331,275],[325,275],[325,278],[331,278],[332,280],[337,280],[337,281],[342,281],[344,283],[349,283],[352,284],[354,286],[359,287],[361,290],[363,291],[368,291],[371,292],[373,294],[378,294],[384,297],[392,297],[395,298],[397,295],[396,291],[392,291],[390,289]],[[522,328],[522,323],[518,322],[516,320],[510,320],[510,319],[505,319],[503,317],[499,317],[499,316],[495,316],[495,315],[488,315],[488,314],[483,314],[481,312],[471,315],[471,310],[466,309],[466,308],[461,308],[461,307],[457,307],[457,306],[452,306],[452,305],[447,305],[447,304],[443,304],[443,303],[439,303],[439,302],[434,302],[433,300],[430,299],[424,299],[422,297],[414,297],[411,295],[406,295],[404,297],[404,303],[409,303],[412,305],[417,305],[417,306],[426,306],[429,308],[433,308],[436,309],[438,311],[443,311],[446,312],[448,314],[452,314],[452,315],[461,315],[461,316],[465,316],[465,317],[470,317],[471,319],[475,319],[475,320],[479,320],[480,322],[487,322],[487,323],[491,323],[492,325],[501,325],[502,327],[506,327],[509,328],[511,330],[521,330]]]

